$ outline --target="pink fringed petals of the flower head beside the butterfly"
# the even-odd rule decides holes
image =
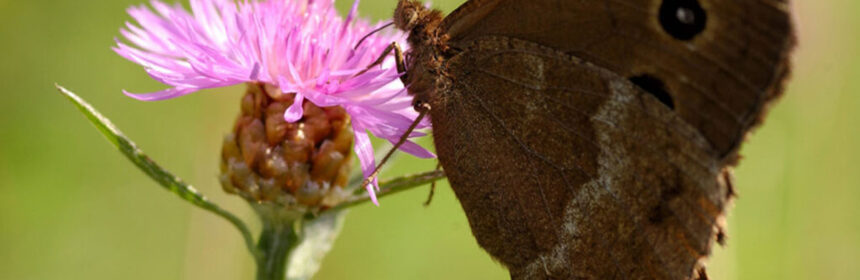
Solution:
[[[284,118],[302,117],[302,102],[341,106],[351,117],[355,152],[368,176],[375,167],[368,132],[396,142],[418,113],[399,81],[392,61],[357,75],[375,61],[391,42],[403,35],[369,36],[381,24],[356,19],[358,0],[346,19],[326,0],[191,0],[192,13],[181,5],[152,1],[128,13],[139,26],[126,23],[122,35],[132,47],[117,40],[119,55],[144,67],[154,79],[171,88],[148,94],[126,95],[144,101],[163,100],[245,82],[275,85],[296,93]],[[418,126],[428,127],[427,122]],[[413,132],[410,137],[424,134]],[[422,158],[434,157],[407,142],[400,148]],[[366,186],[378,205],[373,186]]]

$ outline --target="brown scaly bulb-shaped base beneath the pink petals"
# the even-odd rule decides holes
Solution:
[[[302,104],[302,118],[284,120],[295,94],[248,83],[233,132],[224,138],[221,185],[255,203],[309,211],[348,198],[353,132],[339,107]]]

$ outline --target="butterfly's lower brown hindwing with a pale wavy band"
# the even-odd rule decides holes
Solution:
[[[485,37],[430,101],[439,160],[513,278],[691,275],[728,200],[708,142],[626,78]]]

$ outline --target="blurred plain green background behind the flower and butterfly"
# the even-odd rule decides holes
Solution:
[[[433,2],[448,12],[463,1]],[[860,4],[794,2],[794,78],[743,149],[712,279],[860,279]],[[0,0],[0,279],[251,279],[228,223],[132,168],[53,89],[88,99],[154,159],[254,220],[216,180],[241,87],[155,103],[120,92],[163,88],[109,49],[125,8],[142,3]],[[361,12],[382,19],[394,5],[366,0]],[[389,176],[435,166],[396,164]],[[353,210],[316,279],[506,278],[448,186],[429,208],[426,190]]]

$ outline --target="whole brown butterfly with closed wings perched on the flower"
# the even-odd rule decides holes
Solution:
[[[514,279],[704,278],[787,0],[400,0],[404,82],[478,243]],[[422,114],[423,116],[423,114]]]

